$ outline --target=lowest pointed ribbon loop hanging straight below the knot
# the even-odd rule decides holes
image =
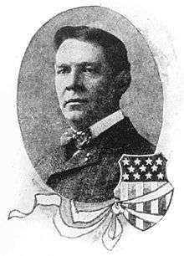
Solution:
[[[110,219],[110,223],[105,230],[105,233],[102,237],[102,243],[105,248],[111,251],[116,243],[120,240],[121,234],[123,233],[123,226],[120,223],[120,220],[112,213],[112,217]]]

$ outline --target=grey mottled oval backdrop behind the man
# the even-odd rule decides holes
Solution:
[[[121,97],[120,107],[141,136],[157,145],[164,95],[156,60],[146,38],[127,18],[109,8],[73,8],[45,23],[35,33],[23,56],[18,77],[18,121],[33,166],[54,146],[59,146],[59,137],[67,128],[54,89],[53,46],[54,33],[66,25],[101,28],[123,41],[131,64],[132,82]],[[45,185],[50,174],[37,173],[38,182],[50,191]],[[88,203],[85,204],[87,207]]]

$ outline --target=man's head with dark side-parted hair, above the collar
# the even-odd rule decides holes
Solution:
[[[119,108],[130,85],[125,45],[100,28],[64,27],[54,37],[55,85],[71,125],[84,129]]]

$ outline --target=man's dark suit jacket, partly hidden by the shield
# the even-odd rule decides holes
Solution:
[[[103,202],[114,197],[120,179],[120,156],[153,154],[155,146],[140,136],[125,117],[87,148],[74,156],[71,151],[71,145],[59,146],[35,168],[53,173],[47,184],[64,197],[78,202]]]

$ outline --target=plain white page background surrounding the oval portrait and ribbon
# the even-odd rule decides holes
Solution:
[[[8,212],[18,207],[30,189],[27,171],[32,169],[18,126],[16,90],[18,70],[33,34],[49,18],[69,8],[102,5],[125,15],[146,38],[151,40],[161,68],[165,90],[165,122],[160,146],[169,158],[167,173],[175,187],[171,207],[155,228],[141,233],[131,231],[122,236],[111,253],[100,243],[91,245],[60,238],[49,218],[35,212],[27,220],[7,221]],[[182,255],[183,254],[183,145],[184,100],[183,74],[184,34],[182,1],[6,1],[0,4],[0,255]],[[172,49],[174,47],[174,52]],[[158,57],[158,55],[162,57]],[[167,71],[167,75],[166,75]],[[168,129],[169,127],[169,129]],[[169,139],[168,139],[169,138]],[[165,146],[166,145],[166,146]],[[23,189],[21,189],[23,187]],[[32,205],[33,198],[29,198]],[[25,205],[23,202],[22,205]]]

